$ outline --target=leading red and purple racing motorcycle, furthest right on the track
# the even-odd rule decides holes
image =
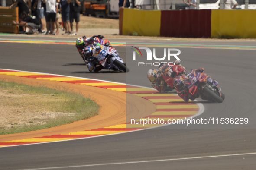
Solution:
[[[190,81],[185,81],[188,87],[188,92],[195,97],[200,97],[203,100],[215,101],[222,103],[225,99],[225,94],[218,86],[218,82],[211,79],[211,76],[198,70],[191,70],[188,74]]]

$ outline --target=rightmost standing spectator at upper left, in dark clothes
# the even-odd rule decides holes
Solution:
[[[78,35],[79,21],[80,21],[81,2],[79,0],[71,0],[70,3],[70,28],[72,35]],[[73,22],[75,18],[75,30],[73,31]]]

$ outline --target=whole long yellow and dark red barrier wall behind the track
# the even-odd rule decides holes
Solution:
[[[120,35],[256,38],[255,10],[120,9]]]

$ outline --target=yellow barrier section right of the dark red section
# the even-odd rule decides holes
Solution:
[[[255,10],[211,11],[211,38],[256,38]]]

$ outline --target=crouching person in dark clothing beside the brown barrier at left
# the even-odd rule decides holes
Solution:
[[[14,25],[19,25],[22,27],[29,28],[30,32],[35,33],[37,30],[41,29],[40,21],[36,18],[36,16],[28,15],[26,12],[21,14],[21,22],[13,21]]]

